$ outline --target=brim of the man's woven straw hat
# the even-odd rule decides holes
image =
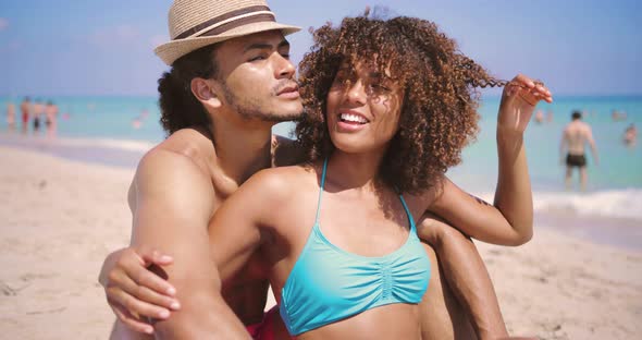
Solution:
[[[283,32],[283,35],[288,35],[295,32],[299,32],[301,28],[297,26],[291,25],[283,25],[274,22],[260,22],[260,23],[252,23],[248,25],[243,25],[233,29],[230,29],[223,34],[217,36],[206,36],[206,37],[197,37],[197,38],[185,38],[180,40],[169,41],[162,45],[159,45],[153,52],[162,59],[162,61],[168,64],[172,65],[176,59],[195,51],[201,47],[206,47],[208,45],[225,41],[232,38],[243,37],[246,35],[261,33],[267,31],[274,31],[279,29]]]

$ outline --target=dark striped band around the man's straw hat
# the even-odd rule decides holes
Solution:
[[[184,39],[192,36],[218,35],[225,31],[257,22],[274,22],[274,14],[270,11],[270,8],[267,5],[254,5],[219,15],[186,29],[174,37],[173,40]]]

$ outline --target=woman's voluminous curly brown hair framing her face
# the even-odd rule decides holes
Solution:
[[[399,130],[379,171],[398,191],[420,193],[461,161],[461,149],[478,132],[476,87],[503,86],[455,40],[427,20],[398,16],[346,17],[312,32],[314,45],[299,64],[306,114],[297,123],[297,143],[306,160],[324,159],[333,150],[325,121],[328,93],[343,62],[368,63],[403,85]],[[386,72],[387,71],[387,72]]]

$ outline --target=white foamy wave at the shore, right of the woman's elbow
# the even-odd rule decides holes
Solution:
[[[493,202],[493,194],[480,195]],[[605,190],[589,193],[535,192],[535,214],[552,212],[583,217],[625,218],[642,221],[642,189]]]

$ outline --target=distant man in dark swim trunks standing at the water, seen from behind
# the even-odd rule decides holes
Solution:
[[[595,165],[597,165],[597,148],[595,147],[595,141],[593,139],[593,132],[589,124],[582,122],[582,113],[576,110],[571,114],[571,122],[564,127],[559,146],[560,157],[564,157],[566,151],[565,183],[567,187],[570,187],[571,185],[573,168],[578,168],[580,170],[580,185],[582,190],[587,189],[587,157],[584,155],[584,144],[587,143],[589,143],[593,159],[595,160]]]

